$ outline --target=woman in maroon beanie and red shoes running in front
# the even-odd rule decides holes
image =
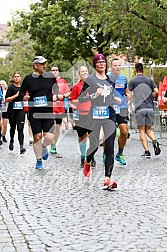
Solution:
[[[102,127],[106,145],[104,189],[112,189],[117,187],[117,183],[110,180],[114,166],[114,141],[116,136],[116,116],[112,104],[114,99],[118,102],[120,102],[120,99],[114,98],[115,84],[106,76],[105,56],[96,54],[93,58],[93,65],[96,73],[91,74],[85,80],[82,93],[78,98],[80,103],[91,101],[88,123],[92,132],[89,135],[90,146],[84,163],[84,175],[90,176],[91,160],[98,150],[99,133]]]

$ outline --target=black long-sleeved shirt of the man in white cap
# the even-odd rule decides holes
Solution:
[[[31,111],[53,111],[53,94],[58,94],[58,85],[54,75],[51,72],[45,72],[42,75],[29,74],[22,83],[20,96],[23,97],[26,91],[29,92],[29,110]],[[40,97],[46,97],[47,105],[35,107],[34,100]]]

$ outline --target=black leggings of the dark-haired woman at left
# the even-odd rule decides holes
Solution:
[[[17,125],[18,140],[20,146],[23,145],[24,141],[24,122],[25,122],[25,112],[24,109],[11,109],[8,110],[8,118],[10,124],[10,141],[14,142],[14,135]]]

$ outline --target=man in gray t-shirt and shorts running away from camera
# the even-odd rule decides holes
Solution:
[[[135,64],[136,76],[129,81],[128,88],[132,92],[135,105],[136,123],[139,129],[140,140],[144,148],[144,158],[150,158],[151,153],[148,148],[149,137],[152,140],[155,155],[161,153],[158,141],[152,129],[154,117],[153,97],[158,96],[158,88],[151,78],[144,75],[142,63]]]

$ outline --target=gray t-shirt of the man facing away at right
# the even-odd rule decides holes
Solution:
[[[138,74],[129,81],[128,89],[133,91],[135,111],[143,108],[153,109],[152,92],[156,87],[154,81],[143,74]]]

